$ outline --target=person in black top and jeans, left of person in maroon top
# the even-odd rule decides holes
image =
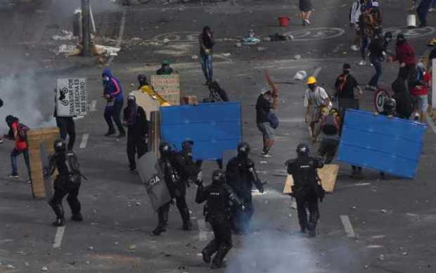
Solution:
[[[380,80],[380,76],[382,75],[383,58],[386,56],[384,42],[385,40],[383,39],[382,33],[377,31],[374,32],[373,39],[368,46],[369,61],[376,70],[376,74],[374,74],[368,84],[366,84],[366,89],[371,91],[376,91],[378,89],[378,80]]]

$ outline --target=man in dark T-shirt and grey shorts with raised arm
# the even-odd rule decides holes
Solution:
[[[264,158],[270,158],[271,147],[274,145],[274,129],[271,127],[271,109],[277,108],[278,89],[274,82],[272,82],[269,72],[265,72],[267,82],[271,89],[264,89],[257,97],[256,102],[256,122],[257,128],[262,133],[263,149],[262,156]]]

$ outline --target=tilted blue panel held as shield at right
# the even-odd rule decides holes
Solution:
[[[413,178],[421,157],[426,129],[427,126],[419,122],[348,109],[342,127],[338,160]]]

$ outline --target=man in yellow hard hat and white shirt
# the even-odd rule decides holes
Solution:
[[[315,124],[321,118],[321,109],[326,106],[328,110],[331,109],[332,104],[326,89],[316,85],[316,78],[309,77],[307,79],[307,89],[304,93],[304,100],[307,101],[306,113],[304,114],[304,122],[309,122],[311,137],[315,135]],[[309,111],[312,108],[312,114]]]

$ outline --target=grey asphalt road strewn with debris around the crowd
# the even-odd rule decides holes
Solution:
[[[378,172],[372,170],[365,170],[363,179],[350,179],[350,167],[340,163],[335,192],[321,204],[316,239],[298,234],[296,210],[291,199],[281,194],[286,178],[281,176],[285,172],[283,163],[295,156],[298,143],[310,143],[303,120],[304,84],[292,80],[295,72],[318,71],[319,82],[328,91],[342,63],[352,64],[352,73],[363,86],[373,73],[368,65],[359,67],[359,53],[350,51],[352,33],[347,27],[347,15],[352,1],[331,0],[328,5],[325,1],[314,1],[316,12],[310,27],[300,26],[295,1],[134,4],[126,8],[124,18],[123,8],[107,2],[98,1],[95,8],[97,34],[105,37],[103,42],[115,44],[120,26],[125,26],[120,37],[122,51],[110,68],[120,78],[126,93],[133,89],[131,84],[136,86],[139,72],[149,75],[162,59],[169,59],[181,74],[182,94],[207,96],[198,60],[193,59],[198,54],[193,37],[203,25],[210,25],[219,39],[214,56],[215,77],[231,100],[241,101],[244,139],[252,145],[252,158],[260,176],[269,184],[267,193],[254,198],[252,234],[233,236],[234,248],[227,257],[229,266],[216,272],[435,272],[436,186],[432,177],[436,132],[430,127],[413,180],[388,176],[381,181]],[[5,83],[2,82],[0,97],[11,100],[0,113],[8,115],[5,109],[15,109],[23,122],[37,123],[40,120],[34,119],[32,113],[39,111],[46,120],[53,110],[50,92],[56,76],[67,73],[89,77],[89,100],[96,101],[96,110],[77,120],[75,146],[83,172],[89,178],[82,184],[79,196],[85,220],[68,221],[65,230],[59,231],[50,225],[53,213],[49,206],[45,201],[32,199],[29,185],[0,178],[0,272],[40,272],[42,267],[49,272],[212,272],[198,256],[212,234],[201,224],[203,207],[193,203],[195,186],[188,189],[188,206],[191,220],[200,229],[182,231],[177,208],[172,207],[169,230],[162,236],[151,236],[157,215],[139,177],[128,172],[125,141],[103,137],[106,128],[100,64],[93,58],[65,58],[51,52],[61,44],[73,43],[51,39],[60,29],[71,28],[71,10],[77,4],[68,3],[32,1],[1,9],[0,22],[4,27],[0,46],[5,58],[0,65],[1,79],[4,81],[14,73],[19,81],[8,81],[13,89],[19,89],[17,86],[22,82],[27,88],[13,96],[1,88]],[[406,7],[406,1],[383,1],[384,25],[409,34],[409,41],[421,56],[435,29],[402,28]],[[290,27],[277,26],[279,15],[290,16]],[[435,15],[430,13],[429,20],[430,26],[434,25]],[[289,32],[295,39],[236,46],[236,39],[250,29],[261,37]],[[164,45],[165,38],[170,42]],[[259,46],[265,50],[258,51]],[[51,62],[41,64],[46,59]],[[281,126],[272,150],[274,157],[267,160],[259,156],[262,142],[255,126],[254,109],[259,90],[265,84],[264,69],[271,72],[274,81],[288,82],[279,84]],[[29,71],[34,76],[26,77]],[[397,64],[385,64],[380,86],[389,86],[396,74]],[[34,98],[28,92],[38,96]],[[20,104],[23,101],[25,104]],[[361,107],[374,109],[373,93],[365,92]],[[89,139],[84,141],[84,148],[79,148],[84,134]],[[316,153],[317,145],[310,146]],[[10,171],[11,148],[11,143],[0,146],[3,177]],[[24,176],[22,165],[20,175]],[[207,183],[214,166],[205,163]],[[66,211],[68,215],[69,210]],[[354,238],[347,236],[340,215],[350,220]],[[57,232],[63,232],[62,241],[60,247],[53,248]]]

